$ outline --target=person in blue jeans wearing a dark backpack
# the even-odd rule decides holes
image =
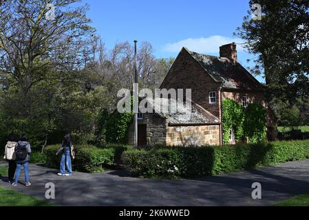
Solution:
[[[27,137],[25,135],[21,135],[21,140],[17,142],[17,146],[15,148],[17,169],[15,173],[15,180],[12,186],[17,186],[22,166],[23,166],[23,173],[25,174],[25,186],[31,186],[28,171],[30,154],[31,154],[30,143],[28,142]]]

